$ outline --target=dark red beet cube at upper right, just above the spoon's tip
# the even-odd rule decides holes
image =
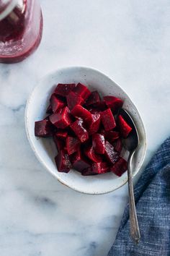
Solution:
[[[105,96],[104,101],[107,104],[107,107],[112,109],[114,114],[117,114],[117,111],[122,108],[123,105],[123,101],[114,96]]]

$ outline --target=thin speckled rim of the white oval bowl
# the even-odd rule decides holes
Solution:
[[[102,74],[102,76],[106,77],[108,80],[111,80],[112,82],[115,83],[115,85],[117,85],[124,93],[125,95],[130,99],[130,101],[133,103],[133,101],[131,100],[130,96],[126,93],[126,91],[124,89],[122,89],[122,87],[120,85],[117,84],[117,82],[115,82],[114,80],[112,80],[112,78],[110,78],[109,76],[107,76],[107,74],[104,74],[103,72],[100,72],[98,69],[94,69],[92,67],[86,67],[86,66],[68,66],[68,67],[60,67],[58,69],[54,69],[53,71],[49,72],[48,74],[45,74],[44,76],[42,76],[39,80],[37,80],[35,88],[33,88],[32,92],[30,93],[28,99],[27,99],[27,103],[26,103],[26,107],[25,107],[25,111],[24,111],[24,124],[25,124],[25,130],[26,130],[26,134],[27,134],[27,140],[30,142],[30,146],[33,150],[33,152],[35,153],[35,156],[37,158],[37,160],[42,164],[42,166],[45,167],[46,171],[48,171],[50,174],[52,174],[55,179],[58,180],[58,182],[60,182],[61,184],[65,185],[66,187],[73,189],[77,192],[81,192],[85,195],[104,195],[107,194],[109,192],[113,192],[117,189],[119,189],[120,187],[124,186],[127,182],[128,182],[128,176],[122,180],[121,184],[118,184],[117,186],[115,186],[113,189],[109,189],[109,190],[104,190],[104,191],[97,191],[97,192],[84,192],[83,189],[77,189],[76,187],[73,187],[72,185],[68,185],[67,182],[65,182],[63,179],[61,179],[61,177],[57,176],[57,172],[56,174],[54,174],[52,171],[50,171],[50,168],[48,167],[48,165],[46,164],[45,161],[42,160],[42,158],[40,157],[38,150],[36,150],[31,136],[30,136],[30,131],[28,129],[28,110],[29,110],[29,106],[30,106],[30,101],[32,99],[32,95],[34,95],[35,90],[37,89],[37,86],[40,85],[40,83],[45,80],[47,77],[53,76],[53,74],[55,74],[56,72],[63,72],[66,71],[68,69],[89,69],[93,72],[97,72],[99,74]],[[133,103],[133,105],[135,106],[135,103]],[[145,124],[143,123],[143,119],[141,118],[139,112],[138,112],[138,108],[135,106],[136,108],[136,113],[138,114],[138,118],[140,119],[140,121],[142,121],[143,124],[143,134],[144,137],[146,139],[146,142],[144,144],[144,151],[143,151],[143,160],[140,162],[140,164],[138,165],[138,168],[135,169],[135,171],[133,172],[133,178],[136,176],[136,174],[138,174],[138,172],[140,171],[141,166],[143,165],[143,162],[146,158],[146,148],[147,148],[147,135],[146,135],[146,127]]]

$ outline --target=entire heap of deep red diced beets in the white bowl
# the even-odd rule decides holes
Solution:
[[[100,98],[85,85],[58,84],[50,97],[49,114],[35,122],[35,136],[53,136],[58,171],[71,168],[82,175],[113,172],[121,176],[127,162],[120,156],[122,137],[132,128],[117,112],[123,101],[114,96]]]

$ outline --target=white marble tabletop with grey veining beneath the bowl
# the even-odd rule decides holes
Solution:
[[[59,184],[27,142],[25,103],[53,69],[99,69],[143,116],[147,162],[169,136],[169,0],[41,2],[40,48],[21,64],[0,64],[0,255],[106,256],[128,202],[127,186],[90,196]]]

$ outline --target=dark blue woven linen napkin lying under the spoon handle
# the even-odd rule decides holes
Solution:
[[[170,256],[170,138],[153,156],[135,186],[140,242],[130,237],[129,206],[108,256]]]

